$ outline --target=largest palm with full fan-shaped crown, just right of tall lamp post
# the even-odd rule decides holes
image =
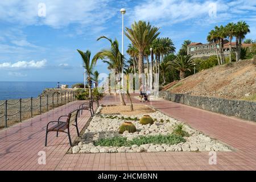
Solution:
[[[138,68],[139,74],[144,73],[144,63],[143,55],[145,48],[149,46],[154,39],[160,34],[158,32],[159,28],[152,27],[148,22],[139,20],[139,22],[134,22],[131,28],[126,27],[125,35],[131,40],[131,43],[138,50]],[[140,80],[141,83],[141,80]]]

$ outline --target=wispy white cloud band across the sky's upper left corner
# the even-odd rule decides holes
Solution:
[[[41,0],[0,1],[0,20],[12,23],[32,25],[45,24],[60,28],[78,23],[85,26],[102,24],[115,15],[111,0],[45,0],[46,16],[38,16]],[[117,11],[118,13],[118,11]]]

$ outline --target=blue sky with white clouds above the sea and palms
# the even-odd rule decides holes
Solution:
[[[46,5],[44,8],[39,3]],[[124,7],[125,26],[134,20],[160,27],[160,37],[173,40],[179,50],[184,40],[206,42],[216,25],[245,20],[256,39],[256,1],[113,1],[113,0],[1,0],[0,81],[82,81],[82,61],[76,49],[92,55],[108,48],[105,35],[121,45],[119,10]],[[216,10],[216,11],[215,11]],[[129,40],[125,38],[125,51]],[[121,49],[121,48],[120,48]],[[96,69],[108,73],[98,61]]]

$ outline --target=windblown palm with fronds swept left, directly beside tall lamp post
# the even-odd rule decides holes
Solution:
[[[119,44],[117,39],[112,41],[112,39],[106,38],[106,36],[101,36],[97,40],[100,39],[107,39],[109,40],[111,47],[110,49],[102,49],[100,52],[96,54],[97,57],[99,57],[101,60],[103,60],[104,63],[108,64],[109,69],[114,69],[115,74],[120,74],[122,72],[122,67],[125,66],[125,59],[122,55],[122,53],[119,51]],[[104,59],[108,60],[104,60]],[[119,80],[119,83],[121,82],[121,79]],[[121,92],[121,84],[119,88],[119,98],[122,105],[126,105],[125,101],[123,100],[123,94]]]

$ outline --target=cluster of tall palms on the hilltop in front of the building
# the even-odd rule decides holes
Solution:
[[[242,48],[242,40],[245,38],[245,35],[250,32],[249,25],[240,21],[237,23],[228,23],[226,26],[215,26],[214,30],[209,32],[207,36],[207,40],[209,43],[215,44],[216,55],[218,59],[218,64],[224,64],[224,40],[229,38],[229,61],[232,61],[232,40],[236,38],[236,61],[241,58],[241,48]]]

